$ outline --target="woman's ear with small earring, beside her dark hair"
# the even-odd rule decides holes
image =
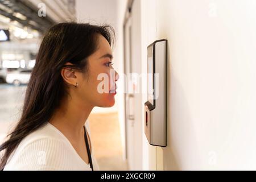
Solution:
[[[71,63],[66,63],[65,65],[73,65]],[[76,77],[76,70],[72,68],[62,68],[61,69],[61,76],[63,77],[63,80],[71,85],[76,85],[77,83],[77,77]]]

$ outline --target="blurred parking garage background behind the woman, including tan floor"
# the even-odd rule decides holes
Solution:
[[[116,28],[117,1],[0,0],[0,143],[18,121],[44,32],[64,21]],[[117,98],[118,100],[118,98]],[[89,117],[94,154],[102,170],[125,170],[117,106]]]

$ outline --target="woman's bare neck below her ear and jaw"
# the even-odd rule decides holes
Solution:
[[[72,137],[80,137],[84,134],[84,125],[93,109],[92,105],[79,104],[78,100],[65,100],[56,109],[49,121],[61,132]]]

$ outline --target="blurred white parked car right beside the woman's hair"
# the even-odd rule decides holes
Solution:
[[[30,69],[7,72],[6,82],[9,84],[14,84],[15,86],[19,86],[20,84],[28,84],[31,72],[32,71]]]

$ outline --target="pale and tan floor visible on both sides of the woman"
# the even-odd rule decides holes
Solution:
[[[26,86],[0,84],[0,143],[14,127],[21,113]],[[118,113],[90,114],[89,126],[94,155],[101,170],[126,170]]]

